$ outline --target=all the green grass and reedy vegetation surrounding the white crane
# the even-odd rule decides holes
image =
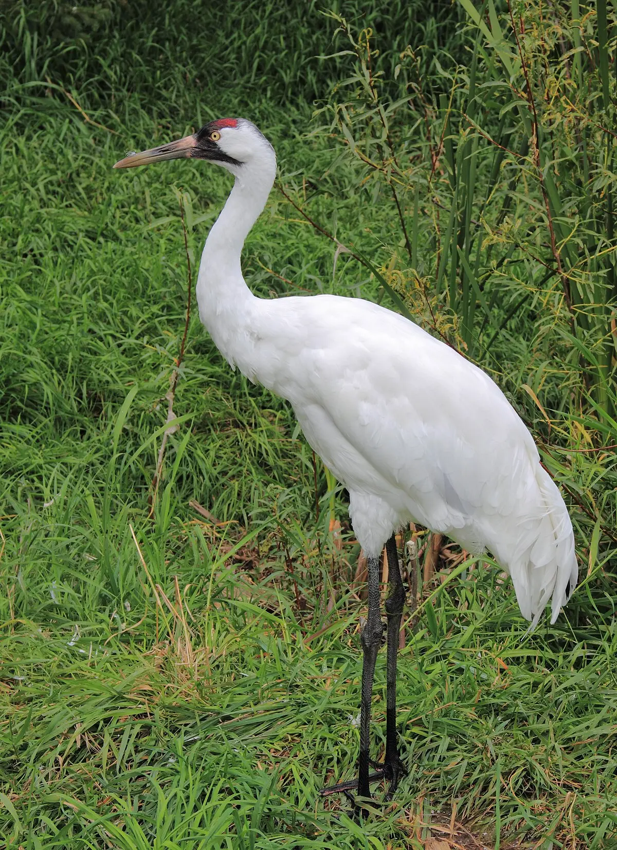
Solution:
[[[0,13],[0,844],[617,847],[614,5]],[[363,824],[318,796],[358,745],[345,494],[187,319],[229,178],[110,168],[229,115],[279,156],[253,291],[372,298],[447,339],[575,524],[580,587],[534,634],[490,558],[407,532],[409,774]]]

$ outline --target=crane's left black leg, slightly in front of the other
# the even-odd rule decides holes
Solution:
[[[358,758],[358,796],[370,797],[369,744],[371,740],[371,694],[377,650],[382,643],[383,624],[379,612],[379,559],[368,559],[369,616],[360,638],[362,662],[362,697],[360,703],[360,750]]]

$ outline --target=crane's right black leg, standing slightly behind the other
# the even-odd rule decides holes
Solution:
[[[390,780],[388,797],[392,796],[399,785],[399,778],[405,775],[405,767],[399,759],[399,744],[396,734],[396,659],[399,653],[400,621],[405,606],[405,587],[399,570],[399,556],[396,551],[396,538],[390,537],[386,543],[388,555],[388,588],[390,595],[386,599],[388,617],[388,667],[386,691],[386,757],[384,775]]]

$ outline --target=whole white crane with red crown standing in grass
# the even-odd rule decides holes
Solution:
[[[549,601],[552,622],[557,619],[578,578],[568,511],[501,389],[454,349],[361,298],[265,300],[252,294],[241,250],[276,171],[275,151],[252,122],[213,121],[115,167],[178,157],[215,162],[235,177],[201,255],[201,321],[232,368],[291,403],[309,445],[348,489],[354,532],[368,559],[358,779],[324,793],[357,788],[366,798],[369,782],[385,778],[391,796],[405,773],[395,726],[405,590],[394,532],[413,521],[470,552],[489,549],[512,576],[521,613],[535,625]],[[386,754],[369,775],[384,544],[391,584]]]

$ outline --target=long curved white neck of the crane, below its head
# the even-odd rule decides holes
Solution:
[[[232,364],[241,365],[236,348],[246,337],[244,331],[258,301],[242,277],[240,258],[246,235],[262,212],[274,182],[275,164],[268,165],[242,167],[201,254],[196,286],[200,318]]]

